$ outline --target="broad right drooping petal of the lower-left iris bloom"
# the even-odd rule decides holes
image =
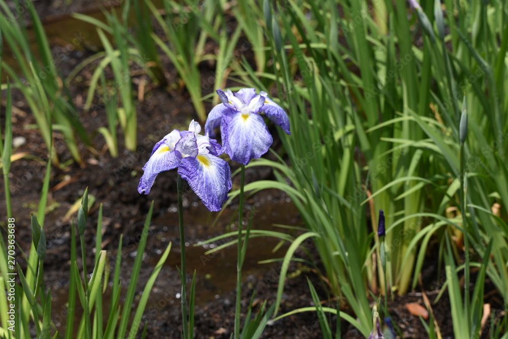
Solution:
[[[206,208],[220,211],[231,189],[231,171],[228,163],[211,154],[184,158],[178,174],[196,192]]]

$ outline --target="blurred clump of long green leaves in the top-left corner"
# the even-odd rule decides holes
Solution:
[[[73,158],[81,162],[75,134],[85,145],[89,145],[90,141],[78,118],[72,99],[67,95],[67,87],[59,81],[58,61],[51,55],[44,27],[31,2],[21,5],[17,0],[14,3],[16,8],[28,10],[38,53],[30,49],[31,40],[22,16],[11,13],[6,2],[2,0],[0,1],[2,16],[0,30],[17,62],[16,65],[3,63],[2,67],[9,79],[13,81],[12,87],[23,93],[48,150],[52,145],[53,129],[59,130]],[[58,164],[56,153],[53,153],[52,160]]]

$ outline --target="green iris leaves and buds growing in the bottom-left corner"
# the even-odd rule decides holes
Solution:
[[[83,195],[83,204],[82,206],[87,205],[87,196]],[[81,206],[81,207],[82,207]],[[134,295],[137,288],[137,281],[141,268],[142,256],[144,253],[144,248],[147,241],[148,228],[150,226],[151,213],[153,209],[153,204],[148,213],[145,226],[143,228],[141,240],[138,247],[138,255],[134,261],[133,270],[130,276],[130,284],[129,288],[126,291],[125,301],[123,302],[123,306],[119,303],[120,297],[120,279],[119,279],[119,267],[122,259],[122,242],[120,238],[120,243],[118,247],[117,259],[115,262],[115,274],[112,281],[112,299],[110,306],[110,313],[108,317],[108,322],[106,326],[103,326],[103,312],[106,310],[106,305],[103,304],[103,298],[106,297],[107,286],[109,284],[109,261],[107,252],[104,250],[100,250],[96,253],[96,263],[93,267],[91,278],[87,281],[87,275],[85,266],[83,266],[83,277],[80,276],[79,268],[77,265],[77,250],[76,250],[76,230],[73,222],[71,229],[71,277],[70,277],[70,285],[69,285],[69,295],[68,295],[68,314],[67,314],[67,323],[66,323],[66,334],[65,337],[83,337],[83,338],[123,338],[128,335],[129,338],[136,337],[138,330],[140,328],[141,317],[143,315],[144,309],[146,307],[146,303],[148,300],[149,292],[151,291],[155,279],[157,278],[158,273],[160,272],[164,262],[166,261],[169,251],[171,249],[171,243],[167,246],[164,251],[162,257],[157,262],[153,272],[148,279],[148,282],[144,286],[143,294],[138,301],[138,306],[136,308],[136,312],[134,315],[134,320],[129,322],[130,313],[131,313],[131,304],[134,302]],[[81,208],[81,211],[84,213],[84,217],[87,215],[87,209]],[[101,208],[101,217],[102,217],[102,208]],[[7,330],[7,327],[10,325],[7,323],[5,315],[8,313],[6,298],[7,295],[4,295],[0,298],[0,312],[2,312],[2,317],[0,318],[0,334],[7,335],[9,338],[24,338],[29,336],[31,333],[30,329],[35,325],[35,330],[37,337],[39,338],[51,338],[51,334],[54,332],[54,324],[51,322],[51,291],[45,291],[44,284],[42,284],[43,280],[43,262],[46,251],[46,238],[44,229],[40,226],[38,218],[32,214],[32,230],[33,230],[33,248],[35,250],[30,253],[34,253],[31,257],[36,258],[36,266],[37,267],[37,276],[35,278],[36,285],[34,287],[34,278],[29,279],[30,266],[23,273],[23,270],[17,265],[17,274],[19,275],[19,281],[21,286],[16,284],[14,298],[16,300],[16,328],[15,331]],[[102,223],[102,221],[100,221]],[[100,233],[100,229],[99,229]],[[0,234],[1,235],[1,234]],[[3,238],[2,238],[3,239]],[[82,243],[83,246],[83,243]],[[101,248],[101,238],[97,237],[96,248]],[[3,256],[6,251],[5,244],[2,240],[0,243],[1,254],[0,259],[4,259]],[[84,254],[84,252],[83,252]],[[82,257],[82,261],[86,262],[86,257]],[[7,262],[4,261],[4,263]],[[7,273],[8,270],[2,267],[2,272]],[[5,274],[0,277],[0,287],[2,291],[8,291],[9,287],[6,284],[7,277]],[[12,277],[12,276],[9,276]],[[81,316],[81,321],[79,322],[78,328],[74,328],[74,315],[76,308],[76,294],[79,297],[79,302],[81,303],[81,307],[83,309],[83,314]],[[26,306],[24,302],[21,300],[26,300]],[[127,307],[125,307],[127,306]],[[121,319],[120,324],[117,324],[117,320],[119,319],[120,310],[123,308],[124,317]],[[126,313],[128,312],[128,313]],[[30,318],[33,320],[34,325],[30,324]],[[116,335],[115,335],[116,333]],[[53,337],[57,337],[58,333],[54,332]]]

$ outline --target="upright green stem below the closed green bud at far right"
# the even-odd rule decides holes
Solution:
[[[464,180],[464,143],[460,143],[460,213],[462,214],[462,230],[464,236],[464,309],[466,319],[469,319],[469,239],[467,238],[467,220],[466,220],[466,191]]]

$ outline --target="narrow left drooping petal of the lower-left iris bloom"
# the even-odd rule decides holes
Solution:
[[[138,192],[140,194],[150,193],[157,174],[178,167],[180,160],[180,152],[170,151],[167,145],[160,145],[143,167],[144,173],[139,181]]]

